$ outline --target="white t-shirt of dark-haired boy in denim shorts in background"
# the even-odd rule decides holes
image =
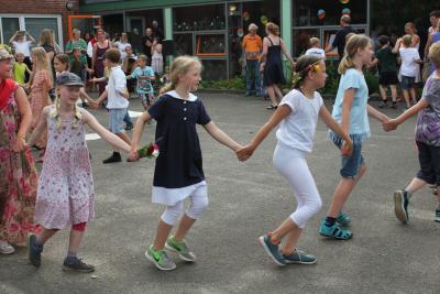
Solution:
[[[107,108],[121,109],[129,107],[129,100],[125,99],[121,92],[127,91],[127,78],[122,72],[121,66],[111,67],[109,84],[107,84]]]

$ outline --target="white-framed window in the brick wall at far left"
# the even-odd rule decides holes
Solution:
[[[44,29],[51,29],[55,34],[55,42],[63,48],[63,31],[61,15],[43,14],[0,14],[1,43],[7,44],[16,31],[28,31],[36,42]]]

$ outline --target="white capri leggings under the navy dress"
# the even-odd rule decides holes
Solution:
[[[185,211],[185,214],[193,219],[198,219],[200,215],[208,207],[208,195],[206,193],[206,187],[197,188],[191,195],[189,195],[191,199],[191,205]],[[169,226],[176,225],[177,220],[182,216],[185,209],[184,205],[185,199],[176,203],[175,205],[167,205],[164,214],[162,215],[162,220]]]

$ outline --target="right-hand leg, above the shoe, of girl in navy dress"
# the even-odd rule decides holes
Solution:
[[[191,206],[182,217],[176,233],[174,236],[177,241],[182,241],[185,239],[185,236],[187,235],[188,230],[191,228],[196,219],[198,219],[208,207],[209,202],[206,186],[201,186],[200,188],[195,190],[190,198]]]

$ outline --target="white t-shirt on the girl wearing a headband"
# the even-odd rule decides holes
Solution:
[[[314,99],[309,99],[294,89],[284,96],[279,106],[283,105],[289,106],[292,112],[279,123],[276,131],[278,143],[311,152],[319,111],[323,105],[321,95],[315,91]]]

